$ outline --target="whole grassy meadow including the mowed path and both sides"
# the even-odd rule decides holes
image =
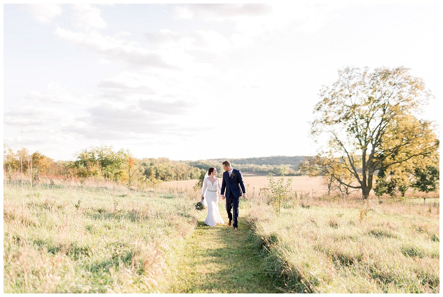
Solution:
[[[195,182],[7,180],[4,293],[439,292],[439,199],[293,189],[277,214],[245,182],[234,232],[204,226]]]

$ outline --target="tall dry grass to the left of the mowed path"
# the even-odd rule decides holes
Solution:
[[[4,293],[155,293],[194,230],[198,195],[110,182],[4,183]]]

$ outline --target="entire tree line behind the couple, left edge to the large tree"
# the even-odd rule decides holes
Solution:
[[[159,183],[171,180],[199,179],[210,167],[223,172],[225,159],[174,161],[168,158],[137,159],[127,149],[115,151],[112,146],[90,146],[74,154],[74,161],[54,161],[42,152],[30,153],[26,148],[14,152],[4,146],[4,173],[9,179],[19,172],[29,172],[34,180],[45,176],[76,177],[80,179],[101,177],[122,183]],[[286,168],[286,175],[300,175],[298,164],[303,156],[272,156],[262,158],[232,159],[233,167],[244,172],[278,174]],[[256,161],[260,164],[246,162]],[[280,162],[292,162],[282,164]],[[31,170],[29,170],[31,168]],[[294,168],[297,168],[295,170]]]

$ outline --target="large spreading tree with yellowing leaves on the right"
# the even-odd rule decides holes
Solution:
[[[329,160],[323,171],[368,199],[376,171],[436,152],[432,122],[417,118],[431,96],[404,67],[339,70],[338,80],[320,91],[311,123],[319,160]],[[337,168],[353,180],[336,175]]]

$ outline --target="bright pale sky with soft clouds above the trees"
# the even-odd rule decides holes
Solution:
[[[172,160],[314,155],[322,85],[405,66],[435,98],[437,4],[5,4],[4,144]],[[23,136],[22,136],[23,129]]]

